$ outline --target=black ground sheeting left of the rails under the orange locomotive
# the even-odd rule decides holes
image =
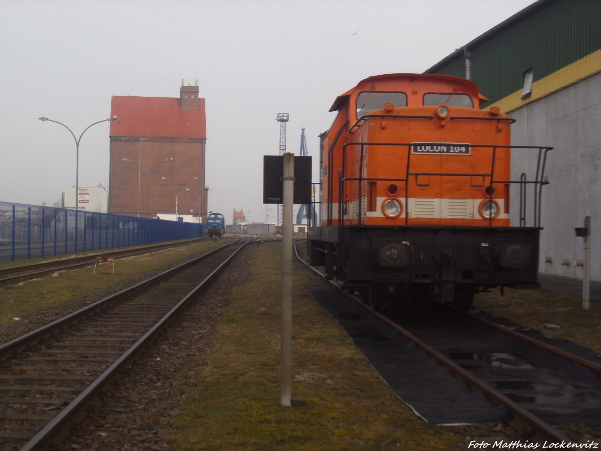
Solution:
[[[504,422],[505,407],[456,378],[391,325],[334,287],[311,287],[311,296],[344,328],[392,393],[430,425]]]

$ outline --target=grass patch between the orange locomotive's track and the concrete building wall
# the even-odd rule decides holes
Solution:
[[[589,310],[582,310],[582,299],[547,290],[512,290],[505,295],[494,289],[475,296],[474,307],[496,316],[507,318],[536,330],[545,324],[560,327],[555,337],[593,349],[601,354],[601,304],[590,302]]]

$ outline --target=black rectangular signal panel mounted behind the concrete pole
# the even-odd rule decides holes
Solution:
[[[311,158],[294,156],[294,203],[311,203]],[[284,197],[284,156],[263,155],[263,203],[281,204]]]

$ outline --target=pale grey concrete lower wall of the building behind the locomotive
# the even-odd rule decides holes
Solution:
[[[550,183],[543,187],[539,271],[582,278],[582,266],[575,262],[584,259],[584,240],[574,229],[591,216],[591,280],[601,280],[601,74],[523,106],[511,117],[517,120],[511,127],[513,146],[554,147],[545,170]],[[532,174],[534,159],[516,154],[512,179],[523,171]],[[511,195],[516,200],[515,189]],[[514,205],[512,225],[517,225]]]

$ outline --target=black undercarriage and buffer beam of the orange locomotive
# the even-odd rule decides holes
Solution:
[[[310,263],[372,308],[435,301],[468,309],[496,286],[538,287],[538,227],[317,227]]]

